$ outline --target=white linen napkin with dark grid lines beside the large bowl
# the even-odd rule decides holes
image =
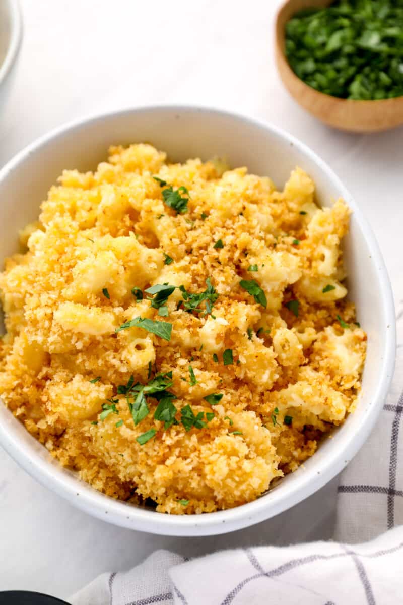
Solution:
[[[190,561],[156,551],[130,571],[100,575],[71,604],[402,603],[402,370],[403,310],[391,391],[375,430],[340,476],[337,541],[221,551]]]

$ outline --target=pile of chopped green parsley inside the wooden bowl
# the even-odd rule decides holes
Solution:
[[[388,99],[403,95],[402,36],[400,0],[336,0],[289,19],[285,53],[295,74],[321,93]]]

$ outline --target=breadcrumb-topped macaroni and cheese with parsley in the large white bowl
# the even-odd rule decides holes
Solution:
[[[174,514],[242,505],[353,409],[366,334],[345,301],[349,209],[318,208],[300,168],[277,191],[117,146],[94,173],[64,171],[41,209],[0,276],[0,394],[96,489]]]

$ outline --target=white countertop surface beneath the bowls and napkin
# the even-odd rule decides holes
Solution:
[[[403,129],[343,134],[295,104],[274,67],[272,22],[279,4],[22,0],[21,52],[0,89],[0,166],[54,126],[129,106],[192,103],[268,120],[311,146],[350,189],[378,237],[401,300]],[[169,538],[88,517],[34,482],[2,450],[0,469],[0,590],[63,598],[95,575],[127,569],[158,548],[198,555],[332,535],[335,482],[254,528]]]

